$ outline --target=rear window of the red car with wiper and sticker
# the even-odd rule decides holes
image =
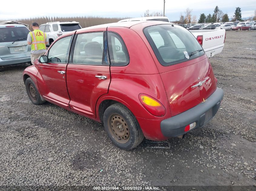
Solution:
[[[173,24],[150,26],[144,29],[144,34],[163,66],[178,64],[204,55],[195,37],[181,26]]]

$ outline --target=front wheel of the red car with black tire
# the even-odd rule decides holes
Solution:
[[[34,103],[35,105],[40,105],[45,103],[45,101],[41,99],[41,96],[35,86],[35,83],[31,78],[26,79],[25,86],[26,86],[28,97],[32,103]]]

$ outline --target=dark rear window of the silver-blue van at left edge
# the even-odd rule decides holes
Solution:
[[[0,28],[0,43],[27,40],[28,33],[27,27]]]

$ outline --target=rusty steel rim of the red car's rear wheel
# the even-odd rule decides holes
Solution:
[[[130,128],[125,119],[117,113],[108,118],[108,130],[119,143],[127,143],[130,139]]]

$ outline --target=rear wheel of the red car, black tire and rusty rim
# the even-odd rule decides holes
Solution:
[[[120,130],[124,131],[127,135],[129,135],[129,138],[127,138],[128,140],[125,140],[124,137],[120,137],[120,136],[118,137],[117,133],[119,132],[119,134],[120,134],[120,130],[119,130],[120,127],[119,128],[116,127],[117,128],[116,132],[114,129],[115,127],[113,127],[113,126],[111,127],[111,124],[114,125],[114,123],[115,123],[115,121],[113,123],[114,118],[117,118],[115,120],[118,120],[118,118],[119,118],[116,116],[120,116],[120,118],[122,120],[122,121],[120,121],[120,125],[122,128]],[[115,104],[109,106],[105,110],[104,116],[103,116],[103,123],[104,123],[105,131],[107,132],[110,140],[117,147],[119,147],[121,149],[124,149],[124,150],[133,149],[133,148],[137,147],[139,144],[141,144],[141,142],[144,139],[144,135],[141,131],[141,128],[140,128],[140,125],[139,125],[137,119],[131,113],[131,111],[127,107],[122,105],[121,103],[115,103]],[[123,126],[123,124],[121,124],[121,123],[124,123],[125,126]],[[117,125],[118,125],[118,123],[117,123]],[[126,127],[128,127],[128,128],[126,128]],[[125,129],[125,130],[123,130],[123,129]],[[127,132],[126,132],[126,129],[127,129]],[[121,131],[121,133],[122,133],[122,131]]]

